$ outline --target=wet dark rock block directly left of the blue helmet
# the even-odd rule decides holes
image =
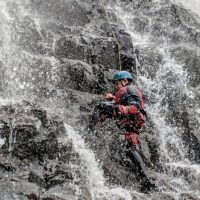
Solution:
[[[64,61],[58,73],[58,89],[72,88],[78,91],[100,94],[108,87],[111,71],[101,65],[88,65],[81,61]]]

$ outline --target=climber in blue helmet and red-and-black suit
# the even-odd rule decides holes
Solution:
[[[88,129],[94,130],[96,124],[102,123],[107,117],[117,119],[120,127],[125,129],[127,156],[135,165],[135,174],[141,184],[141,192],[155,191],[157,186],[147,177],[140,156],[138,135],[146,115],[142,93],[136,85],[132,84],[133,77],[128,71],[115,73],[112,82],[115,95],[107,93],[104,96],[107,101],[96,106]]]

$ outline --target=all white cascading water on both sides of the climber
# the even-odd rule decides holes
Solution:
[[[50,3],[52,2],[50,1]],[[66,1],[63,1],[63,4],[64,2]],[[195,194],[199,198],[199,165],[189,158],[182,137],[185,132],[181,125],[176,124],[174,117],[176,113],[171,112],[174,107],[180,106],[184,99],[193,101],[195,98],[194,93],[188,88],[187,70],[170,53],[173,47],[173,44],[170,43],[171,38],[165,37],[167,33],[157,38],[152,31],[156,18],[152,13],[162,9],[165,6],[165,1],[154,0],[152,1],[153,8],[151,11],[147,11],[147,9],[147,13],[139,13],[141,14],[139,17],[144,19],[141,22],[143,27],[137,26],[139,23],[138,12],[131,7],[131,2],[116,1],[114,4],[111,2],[111,10],[116,14],[119,22],[122,22],[123,29],[131,35],[135,47],[143,53],[153,51],[155,55],[162,57],[162,61],[157,64],[157,68],[151,66],[152,69],[148,69],[148,67],[140,69],[142,75],[139,77],[139,85],[150,99],[146,109],[154,123],[155,132],[158,132],[159,163],[163,169],[161,170],[162,173],[158,173],[157,182],[164,185],[161,188],[163,194],[170,194],[176,200],[181,199],[181,194],[184,192]],[[180,2],[184,1],[180,0]],[[32,4],[36,5],[36,8],[39,6],[38,10],[34,8],[32,11],[30,6]],[[42,26],[49,28],[51,23],[58,23],[57,21],[51,21],[53,17],[48,15],[49,18],[45,18],[45,11],[41,15],[38,14],[40,9],[42,10],[42,6],[44,5],[40,1],[19,0],[15,2],[11,0],[5,2],[0,0],[0,92],[1,96],[4,97],[1,104],[12,103],[20,99],[44,101],[43,104],[48,102],[44,107],[47,107],[50,112],[56,112],[60,115],[66,115],[67,112],[70,112],[69,116],[71,116],[74,114],[71,112],[71,108],[65,107],[65,101],[70,98],[68,92],[71,93],[71,91],[64,91],[64,87],[68,85],[65,84],[61,87],[62,82],[59,82],[60,77],[58,76],[59,73],[65,73],[65,71],[59,72],[64,61],[54,56],[53,53],[55,53],[55,41],[60,37],[59,34],[66,35],[64,31],[69,35],[73,35],[73,33],[70,33],[67,25],[61,26],[62,28],[59,30],[61,33],[54,30],[50,31],[50,34],[42,29]],[[140,5],[137,6],[140,9]],[[53,12],[54,7],[47,5],[44,8],[46,11],[49,9]],[[109,6],[107,9],[110,9]],[[57,16],[57,18],[59,17]],[[166,16],[166,21],[168,18],[170,18],[169,15]],[[159,20],[156,20],[159,24]],[[164,26],[162,26],[163,30]],[[56,28],[54,27],[54,29]],[[75,31],[78,32],[79,30]],[[156,28],[154,31],[156,31]],[[172,30],[170,31],[172,32]],[[84,42],[86,43],[86,41]],[[151,57],[147,54],[146,56]],[[74,73],[76,73],[76,70]],[[68,77],[67,73],[65,75]],[[63,81],[66,77],[62,77]],[[171,84],[172,82],[173,84]],[[56,88],[58,85],[61,87],[60,90]],[[55,94],[57,95],[56,98],[54,98]],[[64,95],[68,96],[64,98]],[[175,105],[173,105],[173,97],[177,99]],[[73,98],[72,101],[74,101]],[[181,110],[182,107],[180,106],[178,109]],[[200,122],[198,106],[195,112],[194,115]],[[99,162],[96,161],[95,154],[86,146],[79,133],[67,124],[65,124],[65,129],[66,136],[72,140],[75,151],[80,155],[81,168],[86,174],[87,187],[93,200],[130,200],[132,198],[153,200],[157,198],[156,194],[145,195],[132,188],[125,189],[119,185],[108,184],[109,181],[104,177],[103,170],[99,166]],[[14,137],[13,130],[11,130],[9,150],[12,150],[12,144],[15,142]],[[0,146],[3,144],[4,139],[0,138]],[[165,184],[162,184],[163,182]],[[193,184],[190,184],[191,182]],[[77,199],[79,199],[78,190],[77,187]]]

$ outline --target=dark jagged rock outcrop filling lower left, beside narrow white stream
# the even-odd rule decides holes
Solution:
[[[74,184],[90,199],[79,156],[58,117],[29,102],[0,110],[0,199],[75,199]]]

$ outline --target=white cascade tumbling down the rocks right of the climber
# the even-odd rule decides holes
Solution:
[[[184,4],[184,1],[180,2]],[[162,1],[155,1],[154,3],[152,7],[155,10],[162,7]],[[191,4],[191,2],[187,2],[187,4]],[[118,2],[118,6],[115,6],[115,13],[118,19],[122,20],[122,24],[125,25],[124,29],[132,36],[133,45],[139,49],[152,49],[151,46],[154,46],[154,50],[163,57],[163,63],[159,65],[159,69],[153,78],[150,77],[148,69],[141,69],[143,75],[139,77],[139,86],[148,93],[149,99],[153,99],[153,103],[148,104],[146,109],[159,132],[160,161],[165,168],[168,168],[167,174],[172,176],[169,178],[168,183],[176,190],[176,193],[173,194],[175,199],[181,199],[180,193],[182,191],[188,191],[200,197],[200,192],[197,189],[199,185],[198,178],[195,178],[195,184],[192,186],[187,183],[184,175],[181,178],[173,177],[174,173],[181,174],[183,171],[187,171],[189,174],[188,179],[199,177],[200,170],[197,168],[198,165],[193,164],[188,159],[187,148],[182,139],[183,130],[168,119],[168,113],[172,106],[169,102],[166,102],[166,97],[175,96],[177,92],[180,93],[180,99],[195,98],[194,93],[187,88],[189,75],[183,69],[183,66],[170,56],[169,50],[171,44],[167,37],[163,36],[162,43],[155,44],[156,42],[153,41],[151,24],[154,22],[154,17],[148,19],[150,25],[146,30],[147,32],[138,31],[137,22],[135,21],[138,17],[138,12],[133,7],[131,3],[123,5],[120,2]],[[188,5],[186,7],[188,8]],[[145,14],[141,12],[142,17],[145,17]],[[166,16],[166,18],[168,17]],[[196,118],[199,118],[198,114],[196,114]]]

